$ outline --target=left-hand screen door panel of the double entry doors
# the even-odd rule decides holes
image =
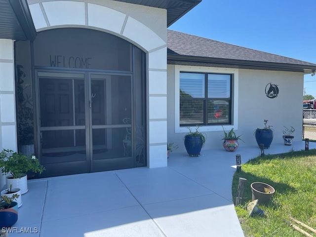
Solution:
[[[88,172],[83,73],[38,72],[43,176]]]

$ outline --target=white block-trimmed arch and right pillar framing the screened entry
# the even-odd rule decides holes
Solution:
[[[94,29],[128,40],[147,53],[148,166],[166,166],[166,10],[113,0],[28,0],[28,4],[38,32]]]

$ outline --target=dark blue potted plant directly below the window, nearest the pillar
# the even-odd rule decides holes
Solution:
[[[200,151],[205,144],[206,134],[198,131],[198,126],[195,131],[192,131],[191,127],[187,127],[189,132],[183,137],[184,146],[190,157],[198,157]]]

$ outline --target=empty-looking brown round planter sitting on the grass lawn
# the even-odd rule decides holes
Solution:
[[[259,203],[269,202],[276,192],[271,185],[261,182],[254,182],[250,186],[252,192],[252,200],[258,199]],[[270,192],[266,193],[264,188],[269,189]]]

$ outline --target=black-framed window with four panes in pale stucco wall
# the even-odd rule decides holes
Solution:
[[[231,124],[232,77],[180,72],[180,126]]]

